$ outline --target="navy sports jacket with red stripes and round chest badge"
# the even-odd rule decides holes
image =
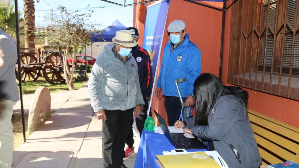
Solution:
[[[152,65],[148,52],[137,45],[137,48],[132,51],[138,66],[139,83],[141,93],[144,97],[149,97],[152,93]]]

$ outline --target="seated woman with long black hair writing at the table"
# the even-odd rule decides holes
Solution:
[[[231,87],[205,73],[194,82],[196,115],[176,121],[176,128],[206,140],[208,150],[216,150],[232,168],[258,168],[262,163],[247,115],[247,102]]]

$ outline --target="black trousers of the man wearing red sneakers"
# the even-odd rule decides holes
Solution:
[[[143,97],[143,100],[144,100],[144,106],[141,107],[140,115],[137,118],[135,118],[136,126],[140,133],[140,136],[141,136],[142,130],[144,128],[144,122],[147,119],[147,110],[149,108],[149,103],[148,103],[147,98]],[[132,125],[133,125],[133,122],[132,122]],[[134,144],[133,136],[134,136],[133,127],[131,126],[129,136],[126,140],[126,143],[127,143],[127,145],[129,145],[130,148],[132,148],[133,144]]]

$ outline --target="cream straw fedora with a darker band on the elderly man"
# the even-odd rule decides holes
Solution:
[[[119,30],[116,32],[115,37],[112,42],[125,46],[125,47],[135,47],[137,42],[133,40],[132,34],[129,30]]]

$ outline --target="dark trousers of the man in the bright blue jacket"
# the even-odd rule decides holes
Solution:
[[[187,97],[182,97],[185,103]],[[167,121],[169,126],[174,126],[177,120],[179,120],[181,114],[181,100],[179,97],[165,96],[164,106],[167,113]]]

